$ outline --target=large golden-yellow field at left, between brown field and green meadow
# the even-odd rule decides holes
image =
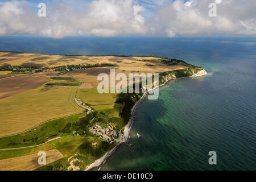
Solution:
[[[76,86],[39,86],[0,100],[0,137],[26,131],[48,121],[81,112]]]

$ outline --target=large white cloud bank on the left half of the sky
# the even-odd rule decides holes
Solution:
[[[33,34],[64,36],[117,36],[144,34],[144,11],[133,0],[94,0],[79,6],[71,1],[53,1],[46,17],[28,9],[26,1],[3,2],[0,6],[0,35]],[[39,10],[39,9],[38,9]]]

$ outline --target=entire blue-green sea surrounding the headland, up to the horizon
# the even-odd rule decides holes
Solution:
[[[208,76],[170,81],[158,100],[143,100],[131,147],[118,147],[101,169],[256,169],[256,38],[2,37],[0,50],[157,55],[204,67]],[[208,164],[209,151],[217,165]]]

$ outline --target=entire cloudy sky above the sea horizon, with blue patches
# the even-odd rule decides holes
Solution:
[[[46,16],[38,16],[39,3]],[[214,3],[216,16],[209,16]],[[211,4],[212,5],[212,4]],[[256,35],[255,0],[0,0],[0,36]]]

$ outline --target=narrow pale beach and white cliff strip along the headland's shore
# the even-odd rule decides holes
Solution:
[[[207,74],[208,73],[205,71],[205,69],[203,69],[203,70],[199,71],[199,73],[194,74],[193,76],[181,77],[181,78],[170,78],[170,79],[166,80],[162,85],[156,86],[155,88],[153,88],[151,90],[154,90],[156,88],[160,88],[160,86],[166,85],[167,82],[170,81],[170,80],[182,79],[182,78],[200,77],[200,76],[204,76],[204,75],[207,75]],[[147,92],[145,92],[143,94],[143,96],[135,103],[135,105],[131,109],[131,118],[130,118],[129,122],[125,125],[125,129],[123,130],[123,137],[125,137],[125,144],[129,143],[130,130],[131,130],[131,127],[133,127],[133,123],[134,123],[134,113],[137,110],[138,105],[141,103],[141,101],[147,96],[148,92],[150,92],[151,90],[148,90]],[[90,164],[90,166],[88,166],[85,169],[85,171],[89,171],[90,169],[93,169],[95,167],[102,166],[102,164],[104,164],[106,162],[106,159],[108,159],[109,156],[113,154],[113,152],[117,149],[117,147],[120,144],[122,144],[122,143],[118,143],[114,148],[112,148],[112,150],[106,152],[105,155],[102,156],[100,159],[95,160],[94,163]],[[98,170],[100,170],[100,168]]]

